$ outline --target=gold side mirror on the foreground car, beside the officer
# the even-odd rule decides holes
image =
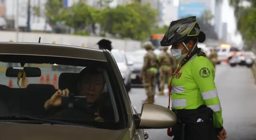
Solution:
[[[160,105],[144,104],[141,114],[138,114],[139,129],[162,129],[174,126],[177,117],[174,112]]]

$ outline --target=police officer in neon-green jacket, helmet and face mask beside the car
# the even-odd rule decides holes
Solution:
[[[206,54],[197,47],[205,34],[196,17],[172,21],[161,41],[170,46],[171,54],[180,59],[180,66],[170,78],[169,93],[177,124],[168,128],[174,140],[224,140],[222,108],[214,83],[214,67]],[[169,106],[170,108],[170,96]]]

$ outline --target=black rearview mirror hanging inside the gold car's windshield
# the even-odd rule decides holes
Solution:
[[[18,77],[20,69],[23,69],[26,73],[26,77],[40,77],[41,70],[36,67],[11,67],[6,70],[6,77]]]

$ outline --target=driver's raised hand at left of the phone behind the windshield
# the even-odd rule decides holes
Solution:
[[[56,93],[54,93],[52,95],[52,97],[50,99],[48,99],[45,103],[44,103],[44,108],[50,109],[51,107],[58,107],[61,105],[61,96],[62,95],[69,95],[69,90],[68,89],[64,89],[64,90],[58,90],[56,91]]]

